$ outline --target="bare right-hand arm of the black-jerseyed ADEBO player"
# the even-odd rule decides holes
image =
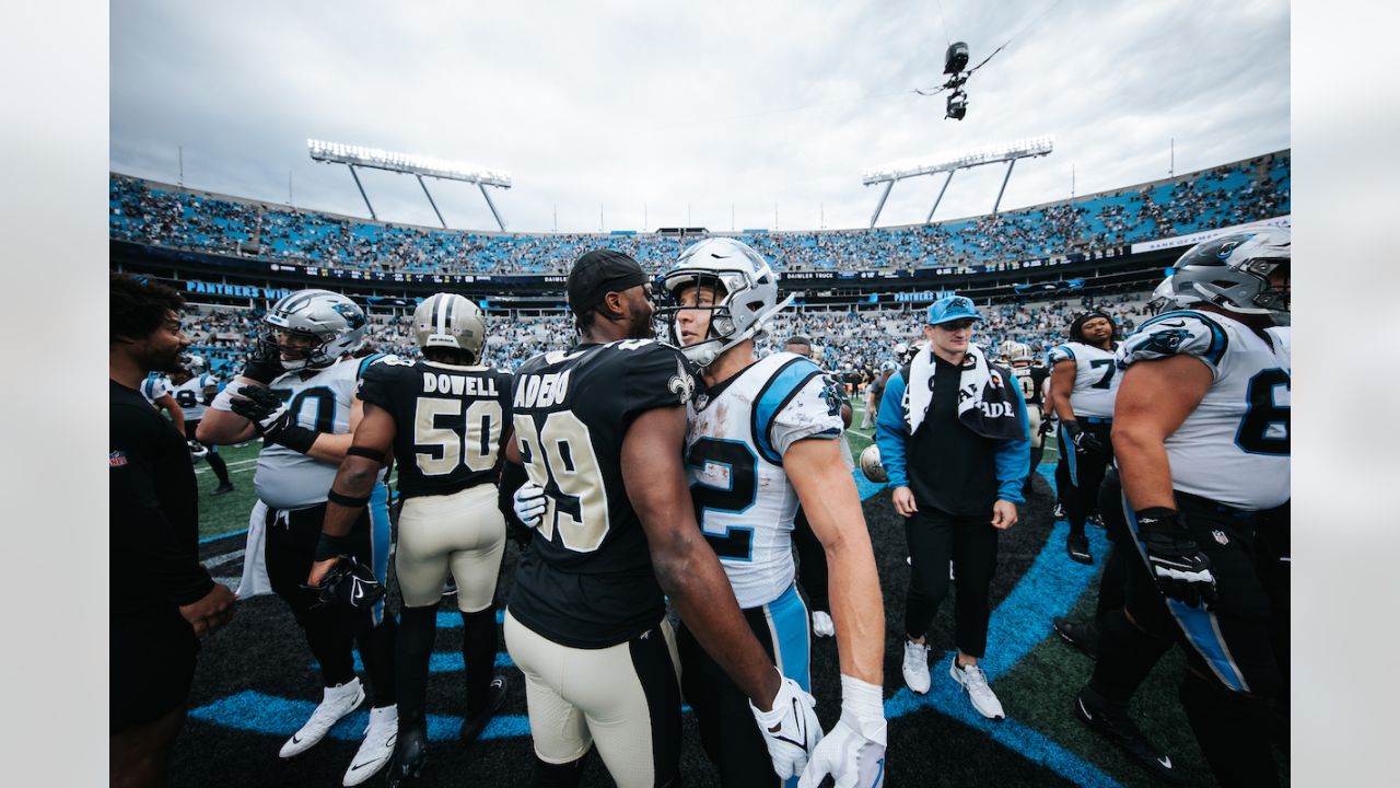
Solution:
[[[781,676],[739,613],[734,587],[696,523],[680,464],[685,432],[680,407],[654,408],[633,421],[622,443],[627,498],[676,613],[753,705],[769,711]]]

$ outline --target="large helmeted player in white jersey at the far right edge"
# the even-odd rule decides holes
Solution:
[[[1121,516],[1145,571],[1128,573],[1124,607],[1105,617],[1075,714],[1158,775],[1170,759],[1127,702],[1176,642],[1182,707],[1215,778],[1278,784],[1270,704],[1282,680],[1256,530],[1289,498],[1291,262],[1288,230],[1197,244],[1172,268],[1187,308],[1148,320],[1119,349]]]

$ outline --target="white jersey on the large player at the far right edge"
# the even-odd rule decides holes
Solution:
[[[1172,487],[1238,509],[1289,498],[1291,331],[1268,339],[1215,313],[1154,317],[1119,348],[1119,365],[1189,355],[1211,370],[1205,397],[1166,439]]]

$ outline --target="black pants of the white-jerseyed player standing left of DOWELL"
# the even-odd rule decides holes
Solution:
[[[393,705],[396,698],[393,639],[398,624],[393,616],[384,614],[384,602],[379,602],[375,613],[350,616],[344,607],[318,604],[316,593],[302,587],[307,575],[311,573],[325,512],[325,503],[294,512],[267,509],[265,552],[267,580],[272,583],[272,590],[291,607],[297,624],[307,632],[307,645],[321,663],[321,676],[326,687],[344,684],[356,677],[354,659],[350,653],[354,642],[360,646],[360,658],[374,690],[372,705]],[[385,529],[382,540],[375,538],[375,527]],[[388,565],[386,555],[377,559],[378,552],[384,552],[388,547],[386,529],[388,515],[384,515],[382,524],[371,523],[371,512],[367,508],[350,530],[351,554],[361,562],[375,566],[377,573],[379,565]]]

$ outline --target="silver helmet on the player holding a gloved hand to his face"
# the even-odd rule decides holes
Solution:
[[[364,342],[364,310],[350,299],[330,290],[297,290],[281,297],[263,315],[258,341],[269,356],[276,353],[287,370],[321,369],[354,352]],[[311,341],[308,348],[288,344],[283,337]]]

